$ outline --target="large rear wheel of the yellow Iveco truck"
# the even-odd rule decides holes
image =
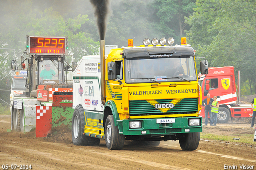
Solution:
[[[84,109],[76,106],[72,116],[72,142],[74,145],[93,146],[99,145],[100,139],[84,135]]]

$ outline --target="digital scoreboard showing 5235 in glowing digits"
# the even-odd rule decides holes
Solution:
[[[68,54],[68,37],[26,36],[27,54]]]

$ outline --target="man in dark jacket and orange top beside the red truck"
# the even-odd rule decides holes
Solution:
[[[202,101],[202,106],[204,107],[204,125],[207,126],[208,124],[208,113],[210,115],[210,118],[212,117],[212,102],[214,101],[213,98],[211,98],[211,95],[210,93],[208,93],[207,95],[207,98],[205,98],[203,101]],[[210,119],[210,125],[212,126],[213,125],[213,121],[212,119]]]

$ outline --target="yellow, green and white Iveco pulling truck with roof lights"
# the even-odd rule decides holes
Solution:
[[[157,146],[179,140],[182,150],[195,150],[202,132],[201,87],[195,50],[182,38],[145,38],[143,45],[84,56],[73,74],[72,141],[122,149],[124,140]],[[200,71],[208,71],[207,61]]]

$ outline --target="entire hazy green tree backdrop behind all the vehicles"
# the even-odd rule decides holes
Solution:
[[[241,71],[242,95],[256,93],[254,0],[110,2],[105,44],[126,46],[132,38],[138,46],[146,37],[169,36],[180,44],[180,37],[186,35],[196,56],[206,57],[210,67],[234,66],[236,78]],[[99,34],[90,0],[5,0],[0,1],[0,15],[0,48],[14,49],[0,49],[0,78],[10,73],[13,58],[19,61],[24,55],[26,35],[68,36],[68,63],[98,53]],[[7,88],[5,81],[0,81],[0,88]]]

